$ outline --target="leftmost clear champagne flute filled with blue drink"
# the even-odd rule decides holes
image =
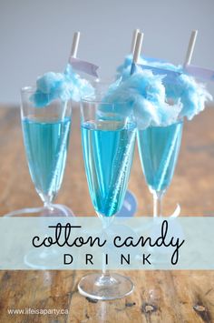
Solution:
[[[67,216],[68,208],[53,204],[63,182],[69,144],[71,101],[54,99],[47,106],[36,107],[34,87],[21,92],[21,119],[26,159],[34,187],[44,202],[43,216]],[[71,215],[71,213],[70,213]]]

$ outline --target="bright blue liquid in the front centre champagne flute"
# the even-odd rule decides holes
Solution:
[[[112,217],[123,203],[130,177],[136,126],[116,121],[82,125],[83,156],[92,204]]]

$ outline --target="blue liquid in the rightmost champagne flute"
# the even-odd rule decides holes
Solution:
[[[178,122],[138,131],[141,167],[151,191],[161,192],[170,186],[180,151],[182,126]]]

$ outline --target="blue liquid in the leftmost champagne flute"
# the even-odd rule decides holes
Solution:
[[[52,201],[63,181],[71,118],[43,122],[22,120],[28,167],[36,191],[45,201]]]

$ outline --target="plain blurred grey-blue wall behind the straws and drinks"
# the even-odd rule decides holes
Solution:
[[[78,56],[113,76],[131,48],[132,30],[144,32],[142,52],[181,64],[192,29],[199,35],[192,64],[214,69],[213,0],[0,0],[0,103],[19,102],[19,89],[47,71],[62,71],[73,32]],[[209,85],[214,95],[214,86]]]

